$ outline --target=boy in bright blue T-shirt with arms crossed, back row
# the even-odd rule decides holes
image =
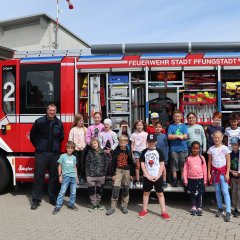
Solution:
[[[188,156],[188,129],[182,121],[182,113],[179,110],[173,112],[174,123],[168,128],[168,140],[170,143],[171,170],[173,174],[173,187],[177,187],[177,171],[181,171],[181,182],[183,180],[183,167]]]

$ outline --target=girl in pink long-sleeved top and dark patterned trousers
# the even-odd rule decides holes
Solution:
[[[202,216],[202,195],[204,185],[207,184],[207,166],[203,156],[200,155],[200,143],[192,142],[190,155],[187,157],[184,169],[184,184],[187,191],[191,194],[192,209],[190,210],[193,216]]]

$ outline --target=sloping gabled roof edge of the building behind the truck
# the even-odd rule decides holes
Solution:
[[[3,29],[9,29],[9,28],[14,28],[19,25],[28,25],[28,24],[34,24],[34,23],[40,23],[40,19],[44,18],[47,21],[54,22],[56,23],[56,20],[46,13],[40,13],[40,14],[35,14],[35,15],[29,15],[29,16],[23,16],[19,18],[13,18],[13,19],[8,19],[5,21],[0,21],[0,28]],[[78,37],[76,34],[71,32],[68,28],[64,27],[62,24],[59,23],[59,27],[66,31],[69,35],[71,35],[73,38],[75,38],[77,41],[80,41],[85,47],[90,48],[90,45],[83,41],[80,37]]]

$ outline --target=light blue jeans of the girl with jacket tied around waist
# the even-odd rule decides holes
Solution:
[[[230,200],[228,189],[229,189],[229,185],[225,181],[225,176],[221,175],[220,182],[215,183],[215,194],[217,199],[217,205],[218,205],[218,208],[223,209],[223,204],[222,204],[222,194],[223,194],[224,202],[226,205],[226,212],[231,213],[231,200]]]

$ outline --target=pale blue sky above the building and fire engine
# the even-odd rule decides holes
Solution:
[[[89,44],[240,41],[239,0],[59,0],[60,23]],[[56,16],[56,0],[0,0],[0,21]]]

